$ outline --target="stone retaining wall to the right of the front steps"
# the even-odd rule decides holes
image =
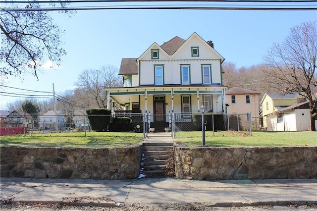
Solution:
[[[180,179],[317,178],[317,147],[175,147]]]

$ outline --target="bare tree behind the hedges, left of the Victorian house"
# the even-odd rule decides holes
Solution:
[[[84,70],[75,85],[77,101],[84,103],[87,108],[106,108],[107,97],[105,87],[120,87],[121,78],[118,69],[112,65],[100,69]]]

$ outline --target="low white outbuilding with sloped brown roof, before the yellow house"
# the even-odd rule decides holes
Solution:
[[[282,108],[266,118],[272,131],[307,131],[310,127],[309,102]]]

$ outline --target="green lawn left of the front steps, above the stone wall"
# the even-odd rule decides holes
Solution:
[[[1,136],[0,146],[112,148],[142,142],[142,133],[84,132]]]

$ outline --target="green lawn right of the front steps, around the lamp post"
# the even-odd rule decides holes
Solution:
[[[206,133],[209,147],[317,146],[317,132],[234,132]],[[202,132],[177,132],[175,142],[185,146],[202,146]]]

